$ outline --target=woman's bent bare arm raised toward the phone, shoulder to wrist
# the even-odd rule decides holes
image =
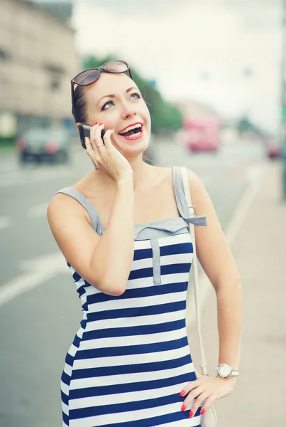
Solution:
[[[100,237],[87,211],[66,194],[56,194],[48,206],[48,221],[67,261],[95,288],[121,295],[134,253],[133,176],[116,182],[109,222]]]

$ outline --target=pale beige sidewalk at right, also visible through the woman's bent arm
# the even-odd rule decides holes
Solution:
[[[280,181],[280,163],[267,164],[231,245],[243,287],[241,374],[231,395],[214,405],[219,427],[286,423],[286,204],[281,202]],[[202,334],[209,375],[214,376],[219,344],[213,289],[204,305]],[[194,327],[191,336],[192,357],[199,367]]]

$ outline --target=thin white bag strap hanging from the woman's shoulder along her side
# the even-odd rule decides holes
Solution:
[[[184,184],[185,197],[187,199],[187,204],[189,206],[189,216],[196,216],[195,209],[192,205],[191,192],[189,189],[189,179],[187,176],[187,169],[185,167],[180,167],[182,180]],[[199,301],[199,273],[197,268],[197,250],[196,250],[196,241],[194,236],[194,224],[189,222],[189,233],[192,236],[192,246],[193,246],[193,261],[191,272],[194,272],[194,300],[196,305],[196,315],[197,315],[197,332],[199,336],[199,349],[201,353],[201,363],[200,367],[202,368],[202,374],[207,375],[207,359],[204,354],[204,345],[202,342],[202,332],[201,332],[201,306]]]

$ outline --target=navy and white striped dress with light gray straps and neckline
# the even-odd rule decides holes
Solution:
[[[189,218],[179,167],[172,180],[180,218],[135,224],[134,257],[126,290],[112,296],[89,285],[67,263],[82,300],[83,319],[61,376],[63,426],[199,427],[199,410],[189,418],[179,396],[197,379],[186,330],[186,296],[192,265]],[[104,228],[94,206],[79,191],[92,227]]]

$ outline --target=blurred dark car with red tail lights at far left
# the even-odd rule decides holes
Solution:
[[[70,134],[65,129],[33,128],[16,139],[16,149],[21,163],[67,163],[70,160]]]

